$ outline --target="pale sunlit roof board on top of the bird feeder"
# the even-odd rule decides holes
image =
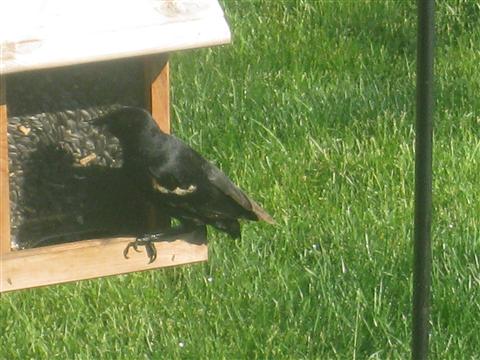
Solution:
[[[217,0],[10,0],[1,7],[4,74],[230,42]]]

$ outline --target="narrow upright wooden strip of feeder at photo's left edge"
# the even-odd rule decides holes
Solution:
[[[7,102],[5,78],[0,75],[0,256],[10,251],[10,193],[8,172]]]

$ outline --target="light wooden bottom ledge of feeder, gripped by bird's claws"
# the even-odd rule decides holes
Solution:
[[[171,242],[156,243],[157,259],[148,264],[145,250],[123,250],[133,238],[86,240],[70,244],[12,251],[2,256],[0,292],[124,274],[132,271],[206,261],[206,239],[187,233]]]

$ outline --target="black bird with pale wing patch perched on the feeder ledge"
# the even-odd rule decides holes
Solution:
[[[162,132],[146,110],[123,107],[95,124],[106,125],[119,139],[123,170],[148,202],[179,220],[178,229],[206,231],[206,225],[211,225],[240,238],[239,219],[274,224],[273,218],[215,165],[178,138]],[[125,249],[125,257],[130,247],[143,245],[153,262],[153,242],[166,235],[172,234],[137,237]]]

